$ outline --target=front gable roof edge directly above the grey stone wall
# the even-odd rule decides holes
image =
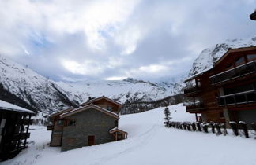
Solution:
[[[71,111],[69,111],[69,112],[64,112],[64,113],[62,113],[62,114],[60,115],[60,118],[64,118],[64,117],[66,117],[66,116],[73,115],[73,114],[75,114],[75,113],[77,113],[77,112],[85,111],[85,110],[88,109],[88,108],[94,108],[94,109],[96,109],[96,110],[99,110],[100,112],[106,113],[106,114],[109,115],[109,116],[113,116],[113,117],[119,119],[119,115],[118,115],[118,114],[116,114],[116,113],[114,113],[114,112],[111,112],[111,111],[108,111],[108,110],[105,109],[105,108],[102,108],[102,107],[100,107],[100,106],[98,106],[98,105],[93,105],[93,104],[86,105],[86,106],[81,107],[81,108],[75,108],[75,109],[73,109],[73,110],[71,110]]]

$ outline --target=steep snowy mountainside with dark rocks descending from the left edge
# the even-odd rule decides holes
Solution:
[[[77,98],[62,90],[51,79],[47,79],[29,68],[9,61],[0,55],[0,98],[18,97],[24,106],[43,112],[55,112],[66,106],[76,106]],[[11,101],[12,98],[9,98]],[[23,105],[23,103],[20,103]]]

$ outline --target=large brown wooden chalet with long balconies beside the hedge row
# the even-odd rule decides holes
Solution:
[[[256,46],[229,49],[213,68],[186,79],[186,112],[203,122],[256,122]],[[198,116],[199,114],[199,116]]]

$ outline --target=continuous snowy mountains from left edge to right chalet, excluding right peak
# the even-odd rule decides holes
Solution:
[[[23,107],[40,112],[56,112],[62,108],[79,106],[88,97],[105,95],[125,103],[156,101],[179,94],[183,83],[150,83],[136,79],[122,81],[88,80],[83,82],[54,82],[29,68],[0,56],[0,99],[14,101]],[[16,99],[17,100],[17,99]]]

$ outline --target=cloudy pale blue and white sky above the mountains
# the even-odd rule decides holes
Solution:
[[[186,75],[205,48],[256,34],[256,0],[1,0],[0,54],[55,81]]]

